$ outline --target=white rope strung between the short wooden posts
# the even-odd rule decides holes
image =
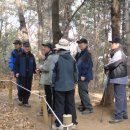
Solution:
[[[38,97],[40,97],[40,98],[43,98],[44,101],[45,101],[45,103],[47,104],[47,106],[49,107],[49,109],[51,110],[51,112],[53,113],[53,115],[55,116],[55,118],[57,119],[57,121],[60,123],[60,125],[61,125],[62,127],[67,128],[67,130],[68,130],[68,128],[73,125],[73,123],[71,123],[70,125],[64,125],[64,124],[62,124],[62,122],[61,122],[60,119],[57,117],[57,115],[55,114],[55,112],[53,111],[53,109],[51,108],[51,106],[50,106],[50,105],[48,104],[48,102],[46,101],[46,98],[45,98],[46,95],[41,96],[41,95],[39,95],[39,94],[37,94],[37,93],[35,93],[35,92],[32,92],[32,91],[30,91],[30,90],[24,88],[23,86],[17,84],[16,82],[14,82],[14,81],[12,81],[12,80],[0,80],[0,82],[12,82],[13,84],[15,84],[15,85],[19,86],[20,88],[22,88],[22,89],[24,89],[24,90],[30,92],[31,94],[33,94],[33,95],[35,95],[35,96],[38,96]]]

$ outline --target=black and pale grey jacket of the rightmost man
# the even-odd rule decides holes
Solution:
[[[111,59],[105,66],[109,71],[110,83],[127,84],[127,57],[123,51],[118,48],[111,51]]]

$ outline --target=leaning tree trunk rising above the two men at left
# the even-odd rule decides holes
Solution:
[[[20,22],[18,37],[22,41],[28,41],[29,36],[28,36],[28,30],[27,30],[27,27],[26,27],[25,17],[24,17],[24,14],[23,14],[22,1],[21,0],[15,0],[15,3],[16,3],[16,6],[18,8],[18,15],[19,15],[19,22]]]

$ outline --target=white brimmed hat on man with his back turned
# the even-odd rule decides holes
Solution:
[[[56,49],[70,50],[69,41],[66,39],[60,39],[59,43],[56,44]]]

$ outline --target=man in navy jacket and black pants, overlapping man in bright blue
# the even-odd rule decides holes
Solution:
[[[29,42],[23,43],[23,52],[18,55],[15,62],[15,75],[19,79],[19,85],[31,91],[33,74],[36,70],[34,55],[30,52]],[[19,105],[30,107],[28,100],[30,92],[19,87],[18,98]]]

